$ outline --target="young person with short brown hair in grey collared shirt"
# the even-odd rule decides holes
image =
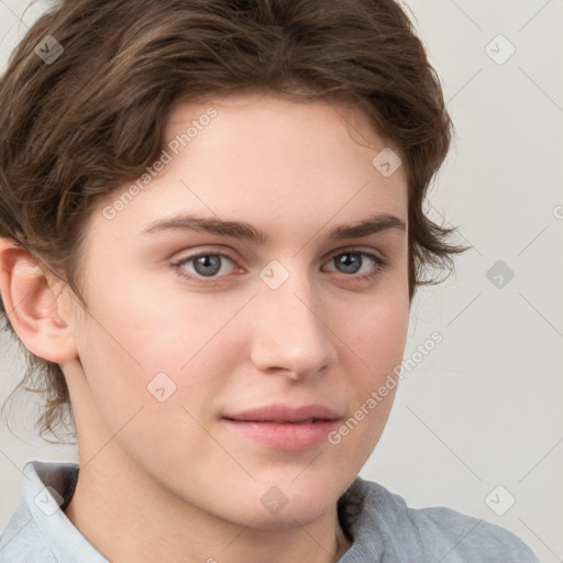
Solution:
[[[79,451],[26,464],[0,562],[537,562],[358,477],[463,250],[398,3],[63,0],[0,103],[3,313]]]

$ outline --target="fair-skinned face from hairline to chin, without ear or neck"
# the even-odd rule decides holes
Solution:
[[[82,452],[111,440],[155,487],[241,525],[333,509],[383,431],[408,327],[407,183],[372,164],[385,146],[340,104],[175,109],[161,164],[88,225]]]

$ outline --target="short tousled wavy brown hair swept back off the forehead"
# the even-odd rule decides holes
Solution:
[[[43,60],[47,52],[53,59]],[[407,170],[409,299],[417,285],[439,283],[422,279],[427,267],[453,269],[452,255],[467,249],[449,244],[454,229],[422,209],[453,125],[395,0],[60,0],[1,78],[0,236],[84,303],[79,257],[93,205],[156,161],[174,104],[251,89],[363,108]],[[18,387],[44,394],[37,428],[57,435],[71,412],[63,372],[25,352]]]

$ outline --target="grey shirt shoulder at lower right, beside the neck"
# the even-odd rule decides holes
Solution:
[[[356,479],[345,495],[352,532],[383,544],[388,559],[382,561],[539,563],[517,536],[483,519],[445,507],[410,508],[365,479]]]

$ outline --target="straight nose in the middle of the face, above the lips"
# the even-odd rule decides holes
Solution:
[[[307,276],[291,275],[277,289],[263,286],[253,301],[251,358],[257,369],[299,380],[335,361],[329,311]]]

